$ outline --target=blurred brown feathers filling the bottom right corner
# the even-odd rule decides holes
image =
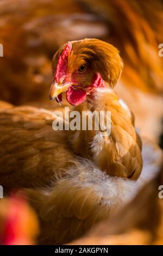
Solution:
[[[97,225],[77,245],[163,245],[163,169],[114,218]],[[159,193],[161,197],[159,197]],[[123,216],[123,218],[121,217]]]

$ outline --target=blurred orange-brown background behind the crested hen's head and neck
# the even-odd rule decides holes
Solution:
[[[161,145],[162,28],[161,0],[1,0],[0,99],[53,108],[53,54],[68,40],[99,38],[120,50],[124,70],[116,91],[142,135]]]

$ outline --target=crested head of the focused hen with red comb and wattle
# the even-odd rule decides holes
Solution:
[[[121,75],[122,60],[117,48],[98,39],[67,42],[53,57],[53,83],[50,99],[61,102],[66,92],[67,101],[74,106],[86,95],[104,87],[113,88]]]

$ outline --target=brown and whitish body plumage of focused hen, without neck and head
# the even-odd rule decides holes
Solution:
[[[1,163],[4,192],[16,186],[34,187],[26,190],[26,193],[39,216],[40,244],[70,242],[97,222],[114,215],[133,198],[141,184],[158,172],[162,159],[158,147],[143,141],[145,164],[137,181],[111,177],[98,169],[92,161],[83,158],[75,160],[74,157],[61,173],[62,168],[57,170],[57,160],[63,167],[65,162],[67,164],[71,160],[72,153],[69,154],[71,151],[67,148],[61,156],[61,142],[63,139],[65,143],[65,137],[54,136],[51,113],[27,106],[14,108],[4,103],[1,117],[1,139],[4,139],[1,142],[1,160],[5,157],[4,153],[10,153]],[[40,121],[43,121],[43,130],[38,130]],[[56,148],[53,148],[54,142],[59,143],[55,144]],[[40,162],[36,162],[38,157]],[[26,164],[29,164],[29,168],[25,168],[24,172]],[[2,175],[3,170],[6,173]],[[44,187],[39,188],[40,185]]]

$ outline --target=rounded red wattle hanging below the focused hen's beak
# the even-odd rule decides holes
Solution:
[[[86,98],[86,91],[82,89],[74,89],[73,87],[69,87],[66,92],[67,101],[73,105],[78,106],[83,103]]]

